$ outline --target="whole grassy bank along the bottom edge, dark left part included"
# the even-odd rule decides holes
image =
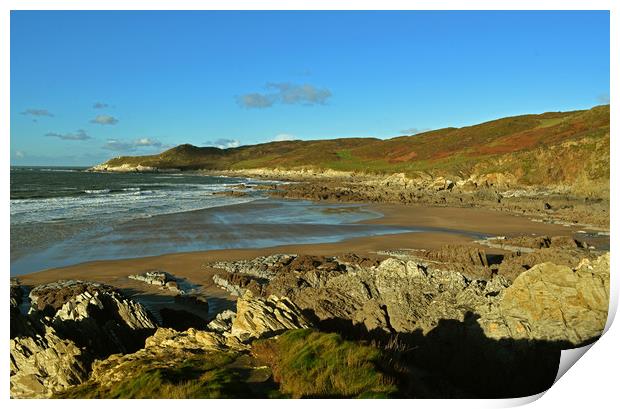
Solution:
[[[174,349],[166,356],[133,359],[112,371],[113,380],[106,376],[105,385],[91,380],[55,397],[384,398],[398,392],[378,369],[379,349],[338,334],[293,330],[257,341],[252,354],[258,360],[232,352],[185,353],[181,360],[174,357]]]

